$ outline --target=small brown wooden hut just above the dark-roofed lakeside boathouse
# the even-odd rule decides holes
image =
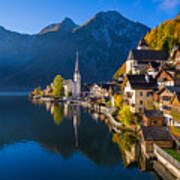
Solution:
[[[158,110],[145,110],[143,115],[143,125],[145,127],[161,127],[164,125],[164,116]]]

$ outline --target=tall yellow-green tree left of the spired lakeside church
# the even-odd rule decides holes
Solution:
[[[62,98],[64,96],[64,85],[63,78],[61,77],[61,75],[57,75],[54,78],[53,95],[58,98]]]

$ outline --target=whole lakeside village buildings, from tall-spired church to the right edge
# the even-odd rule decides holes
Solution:
[[[180,149],[180,133],[171,131],[173,127],[180,132],[180,46],[175,46],[169,55],[163,50],[149,49],[142,39],[136,49],[130,50],[123,69],[112,81],[81,84],[77,52],[73,79],[63,80],[63,101],[84,103],[92,110],[104,109],[101,112],[110,114],[119,127],[125,125],[120,122],[119,111],[128,107],[134,119],[141,117],[140,126],[132,120],[135,128],[132,124],[128,127],[139,134],[141,151],[147,157],[153,157],[154,145],[173,149],[176,144],[176,149]],[[43,93],[48,101],[54,98],[53,83]],[[115,97],[120,98],[119,106]]]

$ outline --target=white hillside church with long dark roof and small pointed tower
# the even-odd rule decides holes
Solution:
[[[139,74],[145,71],[149,63],[164,64],[168,54],[163,50],[149,50],[145,40],[141,40],[137,49],[130,50],[126,60],[126,74]]]

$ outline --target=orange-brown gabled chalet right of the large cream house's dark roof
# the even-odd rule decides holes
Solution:
[[[156,80],[159,86],[180,86],[180,70],[175,68],[161,70]]]

